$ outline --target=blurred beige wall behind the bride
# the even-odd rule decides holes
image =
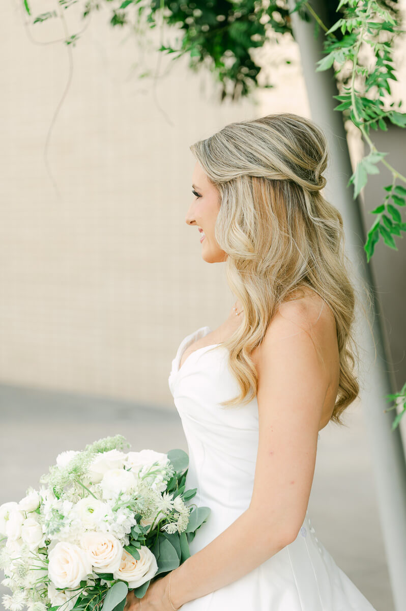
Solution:
[[[217,327],[234,301],[185,222],[189,145],[233,120],[310,117],[299,51],[263,49],[277,87],[219,104],[208,71],[140,53],[106,12],[68,48],[38,44],[62,37],[61,24],[24,26],[20,4],[0,8],[0,383],[169,405],[179,343]],[[65,15],[77,32],[73,9]],[[154,88],[137,73],[158,56],[170,73]],[[292,64],[278,68],[283,57]]]

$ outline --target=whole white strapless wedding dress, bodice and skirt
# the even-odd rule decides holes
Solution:
[[[227,529],[250,503],[258,449],[258,403],[222,409],[220,401],[236,395],[237,382],[228,369],[228,350],[211,344],[190,353],[185,349],[212,330],[200,327],[179,345],[169,387],[181,417],[189,449],[186,490],[190,500],[211,509],[190,541],[195,554]],[[297,538],[266,562],[200,598],[182,611],[376,611],[336,565],[317,539],[308,512]]]

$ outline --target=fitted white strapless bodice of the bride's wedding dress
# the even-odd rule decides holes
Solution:
[[[197,505],[212,508],[223,503],[230,509],[231,523],[248,507],[252,496],[258,404],[255,397],[242,406],[219,405],[239,390],[223,345],[198,348],[179,369],[186,348],[209,332],[210,327],[200,327],[181,342],[172,360],[169,386],[189,450],[187,488],[197,488]]]

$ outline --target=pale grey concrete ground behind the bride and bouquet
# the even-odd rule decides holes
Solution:
[[[175,406],[160,409],[3,385],[0,418],[0,504],[18,501],[29,485],[38,486],[57,453],[107,435],[123,434],[132,450],[187,452]],[[337,565],[377,611],[394,611],[359,403],[347,410],[345,422],[347,427],[330,423],[320,433],[308,511],[317,538]],[[0,595],[5,591],[0,586]]]

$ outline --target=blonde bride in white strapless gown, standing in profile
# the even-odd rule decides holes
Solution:
[[[341,214],[327,143],[298,115],[230,123],[190,147],[186,222],[236,296],[187,335],[169,386],[206,522],[190,557],[125,611],[375,611],[308,516],[319,431],[358,396]]]

